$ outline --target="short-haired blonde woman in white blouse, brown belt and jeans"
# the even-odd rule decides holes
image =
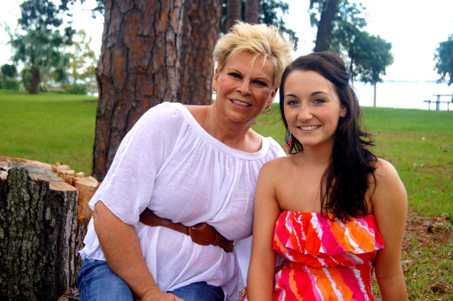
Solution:
[[[137,121],[90,201],[82,300],[237,299],[233,241],[252,234],[261,166],[284,156],[251,126],[291,50],[277,28],[238,23],[213,52],[212,105],[163,103]]]

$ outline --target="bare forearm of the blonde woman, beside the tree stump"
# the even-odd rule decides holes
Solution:
[[[132,225],[124,223],[102,201],[96,203],[93,219],[109,266],[129,285],[139,300],[182,300],[158,288],[146,266]]]

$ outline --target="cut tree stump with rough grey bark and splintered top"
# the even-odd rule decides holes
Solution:
[[[0,299],[57,300],[74,287],[99,186],[69,166],[0,156]]]

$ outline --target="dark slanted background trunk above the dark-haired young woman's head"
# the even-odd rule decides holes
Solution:
[[[327,0],[324,4],[316,33],[315,52],[326,51],[329,48],[332,21],[337,13],[338,2],[339,0]]]

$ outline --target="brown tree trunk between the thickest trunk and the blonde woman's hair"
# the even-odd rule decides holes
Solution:
[[[209,105],[212,102],[212,50],[218,37],[220,10],[218,0],[186,0],[184,3],[177,96],[183,104]]]

